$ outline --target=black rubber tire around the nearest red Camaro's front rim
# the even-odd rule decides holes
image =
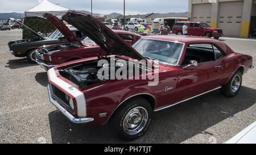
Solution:
[[[127,114],[131,114],[130,112],[133,111],[134,109],[141,109],[142,111],[147,111],[147,117],[142,117],[142,121],[139,120],[139,122],[137,122],[138,120],[136,120],[137,118],[133,119],[133,123],[137,122],[137,129],[139,129],[139,131],[135,130],[135,133],[127,133],[125,131],[125,119],[129,118]],[[141,114],[143,114],[143,112],[141,111]],[[135,115],[134,115],[135,116]],[[112,116],[112,118],[110,119],[110,125],[111,127],[114,128],[114,130],[116,131],[117,135],[126,141],[131,141],[131,140],[135,140],[138,139],[139,137],[141,137],[146,131],[148,126],[151,123],[151,116],[152,116],[152,107],[150,106],[150,103],[147,102],[146,99],[141,98],[141,97],[137,97],[137,98],[133,98],[133,99],[129,99],[127,100],[125,103],[123,103],[123,105],[121,107],[119,107],[117,109],[117,111],[115,111],[114,115]],[[147,121],[144,120],[144,118],[147,118]],[[130,118],[129,120],[131,120],[132,118]],[[129,123],[127,123],[129,124]],[[136,124],[133,124],[136,125]],[[138,132],[138,133],[136,133]]]

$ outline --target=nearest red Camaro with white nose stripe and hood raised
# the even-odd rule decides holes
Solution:
[[[217,89],[236,96],[243,74],[253,68],[251,56],[234,52],[222,41],[145,36],[131,47],[90,15],[68,11],[63,19],[107,54],[49,69],[51,103],[73,123],[109,122],[125,140],[146,132],[153,111]]]

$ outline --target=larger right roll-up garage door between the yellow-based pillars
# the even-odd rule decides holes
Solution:
[[[240,36],[243,1],[220,2],[218,28],[225,36]]]

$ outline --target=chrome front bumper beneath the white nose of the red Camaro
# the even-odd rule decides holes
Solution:
[[[47,88],[48,88],[48,94],[49,94],[50,102],[57,108],[57,110],[59,110],[71,122],[77,123],[77,124],[82,124],[82,123],[89,123],[89,122],[92,122],[94,120],[93,118],[75,118],[67,110],[65,110],[62,106],[60,106],[60,104],[57,103],[55,99],[52,98],[52,87],[48,85]]]

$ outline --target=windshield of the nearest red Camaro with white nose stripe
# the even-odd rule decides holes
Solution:
[[[146,58],[177,65],[183,45],[171,41],[141,39],[133,45],[133,48]]]

